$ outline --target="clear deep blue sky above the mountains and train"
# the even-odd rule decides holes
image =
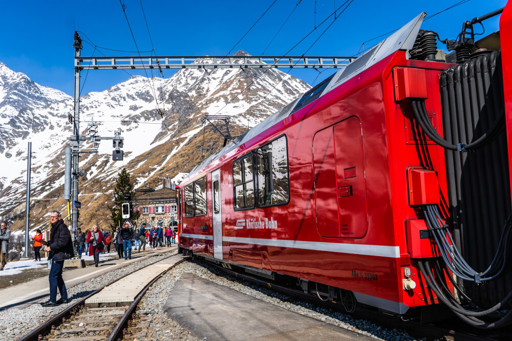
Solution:
[[[306,55],[351,56],[361,43],[406,24],[420,12],[437,13],[459,0],[362,1],[354,0]],[[126,15],[141,51],[152,49],[140,0],[122,0]],[[226,55],[274,0],[240,1],[149,1],[142,0],[157,55]],[[251,55],[283,55],[342,6],[341,0],[276,0],[265,16],[232,50]],[[442,39],[455,39],[464,20],[503,7],[504,0],[471,0],[424,22],[422,29],[439,33]],[[295,10],[293,11],[293,9]],[[288,15],[286,25],[267,48]],[[120,2],[117,0],[4,1],[0,20],[0,61],[10,69],[27,74],[35,82],[73,94],[73,34],[81,31],[83,40],[98,47],[136,51]],[[317,28],[289,55],[302,55],[332,22]],[[485,34],[499,29],[499,17],[484,21]],[[475,32],[481,32],[476,26]],[[87,37],[86,37],[87,36]],[[366,47],[383,37],[366,43]],[[94,47],[83,43],[82,56],[91,56]],[[438,48],[439,45],[438,45]],[[108,56],[133,55],[100,50]],[[98,51],[94,55],[100,55]],[[144,53],[143,55],[149,55]],[[170,77],[175,71],[164,71]],[[286,70],[285,70],[286,72]],[[130,71],[144,75],[143,71]],[[148,71],[151,75],[151,72]],[[308,83],[325,79],[332,71],[318,76],[315,70],[293,70],[290,74]],[[156,75],[156,72],[154,71]],[[157,75],[158,76],[158,75]],[[130,75],[122,71],[91,71],[82,94],[101,91]],[[82,82],[83,82],[82,77]]]

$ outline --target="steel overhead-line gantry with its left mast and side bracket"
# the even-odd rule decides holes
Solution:
[[[81,38],[75,31],[73,48],[75,49],[74,63],[74,115],[70,117],[73,123],[73,135],[69,138],[71,148],[67,148],[66,157],[70,160],[66,166],[65,176],[65,199],[72,200],[70,205],[71,216],[71,235],[73,241],[76,238],[78,226],[78,176],[81,172],[78,170],[78,161],[80,153],[95,153],[97,145],[92,149],[80,148],[82,142],[86,140],[114,140],[114,154],[119,152],[122,147],[123,138],[120,136],[120,130],[116,131],[115,137],[102,138],[97,135],[86,137],[80,135],[80,72],[83,70],[137,70],[137,69],[343,69],[351,63],[354,57],[319,57],[319,56],[121,56],[121,57],[82,57]],[[228,119],[224,117],[205,117],[203,120],[221,119],[226,123]],[[204,123],[204,121],[203,121]],[[210,122],[211,123],[211,122]],[[214,125],[214,124],[212,124]],[[94,122],[90,124],[94,127]],[[215,125],[214,127],[219,130]],[[220,130],[219,130],[220,132]],[[230,139],[229,128],[227,134],[221,133],[225,139],[224,144]],[[121,154],[122,155],[122,154]],[[116,159],[115,160],[122,160]],[[69,206],[68,206],[69,207]]]

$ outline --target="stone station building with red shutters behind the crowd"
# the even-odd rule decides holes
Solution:
[[[175,185],[170,179],[163,179],[163,186],[153,189],[145,184],[135,190],[136,196],[132,201],[135,212],[140,212],[137,226],[146,223],[146,228],[152,226],[178,226],[178,206]]]

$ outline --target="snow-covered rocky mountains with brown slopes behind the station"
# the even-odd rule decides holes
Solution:
[[[101,136],[113,136],[121,128],[124,160],[111,160],[109,141],[100,143],[98,154],[82,154],[80,223],[108,226],[109,193],[122,167],[134,175],[137,186],[144,182],[156,186],[164,176],[178,180],[220,148],[222,138],[211,127],[203,128],[201,116],[233,117],[230,130],[237,136],[308,89],[304,81],[275,69],[219,68],[183,69],[168,79],[133,76],[102,92],[83,95],[82,132],[91,119],[98,122]],[[28,141],[32,142],[34,199],[31,229],[45,227],[51,209],[66,215],[63,150],[72,131],[67,120],[72,111],[73,98],[0,63],[0,219],[13,220],[14,230],[24,224]]]

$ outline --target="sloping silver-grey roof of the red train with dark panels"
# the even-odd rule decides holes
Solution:
[[[252,127],[238,138],[231,140],[221,150],[211,154],[203,162],[201,162],[201,164],[194,167],[185,180],[193,178],[197,172],[205,168],[211,162],[218,160],[221,156],[226,155],[233,149],[248,142],[258,134],[292,115],[292,113],[295,111],[303,108],[314,100],[321,98],[335,87],[367,70],[369,67],[381,61],[382,59],[388,57],[398,50],[411,50],[425,16],[425,12],[418,14],[414,19],[409,21],[407,25],[403,26],[394,34],[376,44],[360,57],[354,59],[352,62],[347,64],[346,67],[340,69],[321,83],[317,84],[315,87],[309,89],[306,93],[288,103],[280,110],[274,112],[271,116],[260,122],[258,125]]]

